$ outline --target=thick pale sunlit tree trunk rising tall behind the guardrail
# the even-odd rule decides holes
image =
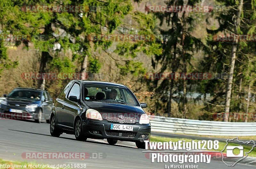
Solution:
[[[241,21],[241,13],[243,9],[243,0],[240,0],[238,11],[236,12],[236,22],[235,22],[235,34],[238,33],[240,30],[240,21]],[[224,121],[228,122],[229,116],[229,109],[230,109],[230,100],[231,100],[231,91],[232,91],[232,83],[233,83],[233,76],[234,76],[234,69],[235,69],[235,62],[236,62],[236,51],[237,51],[237,43],[238,39],[233,42],[232,49],[231,49],[231,60],[230,60],[230,69],[228,74],[228,83],[227,83],[227,93],[226,93],[226,102],[225,102],[225,114],[224,114]]]

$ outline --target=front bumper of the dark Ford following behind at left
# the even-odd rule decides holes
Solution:
[[[21,110],[22,113],[10,112],[10,109]],[[37,108],[20,108],[20,107],[12,107],[0,104],[0,118],[6,119],[14,119],[14,120],[27,120],[27,119],[38,119],[38,111]]]

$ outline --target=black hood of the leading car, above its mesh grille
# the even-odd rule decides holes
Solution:
[[[93,101],[87,101],[85,103],[90,109],[99,111],[103,119],[106,119],[107,116],[124,116],[124,118],[135,118],[138,121],[140,120],[140,116],[145,114],[144,110],[139,106]]]

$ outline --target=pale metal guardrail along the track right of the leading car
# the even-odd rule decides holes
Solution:
[[[151,116],[151,131],[208,136],[256,136],[256,123],[215,122]]]

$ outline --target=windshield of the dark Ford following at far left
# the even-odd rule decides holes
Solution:
[[[14,89],[11,91],[8,97],[29,99],[29,100],[40,100],[41,92],[33,91],[33,90]]]

